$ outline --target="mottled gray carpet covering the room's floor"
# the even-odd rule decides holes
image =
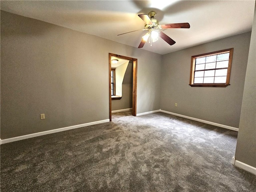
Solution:
[[[2,192],[254,192],[237,132],[155,113],[1,145]]]

